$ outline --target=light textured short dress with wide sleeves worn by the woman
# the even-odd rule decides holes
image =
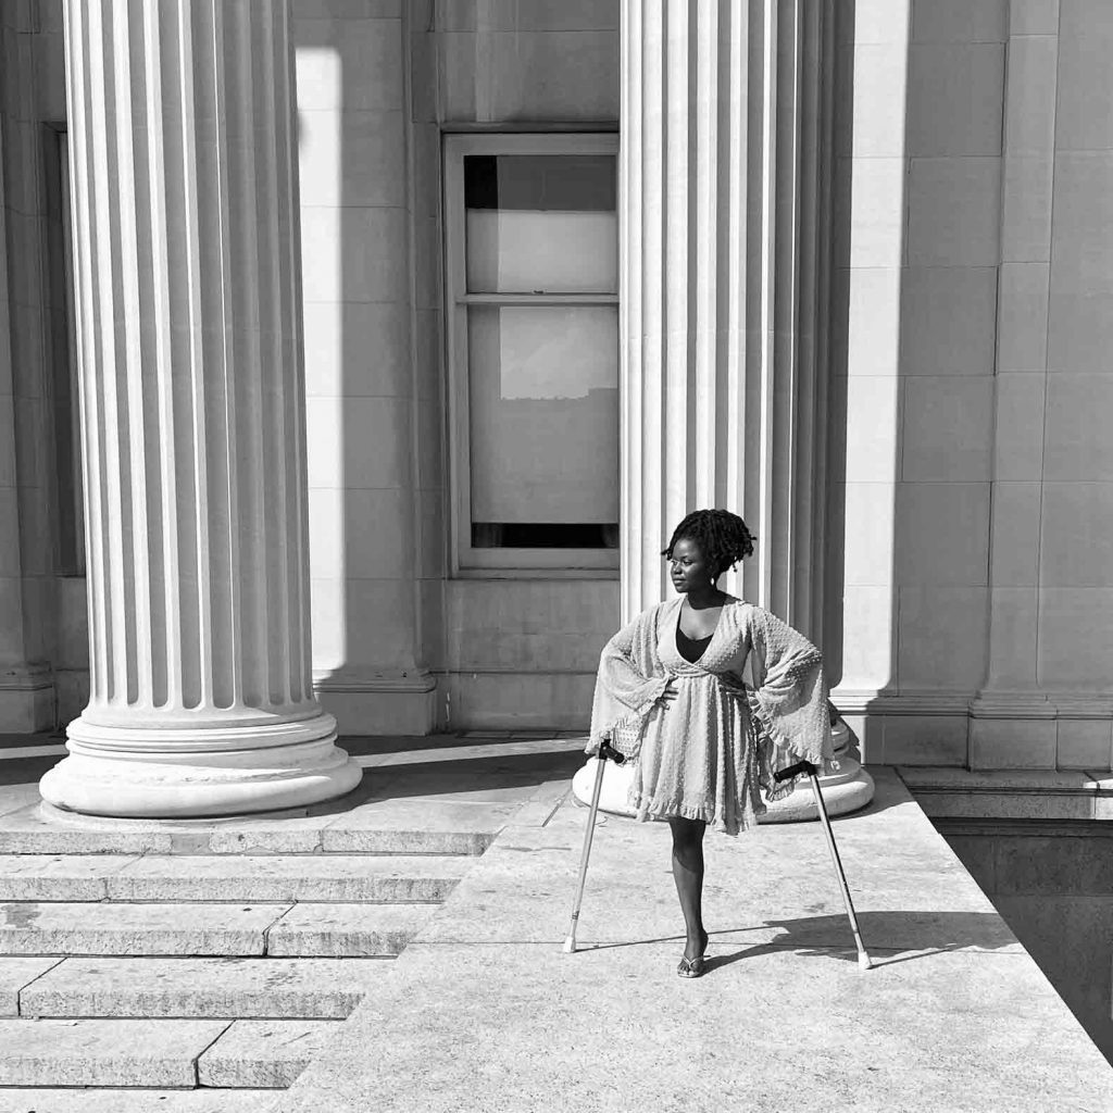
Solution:
[[[702,819],[728,835],[791,791],[775,770],[830,760],[819,651],[752,603],[728,597],[700,658],[677,648],[682,598],[638,615],[604,647],[592,707],[594,751],[605,737],[634,760],[639,819]],[[661,702],[671,681],[676,699]]]

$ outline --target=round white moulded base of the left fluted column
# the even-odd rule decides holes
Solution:
[[[131,819],[243,815],[349,792],[363,769],[336,745],[336,720],[214,728],[70,723],[63,758],[39,781],[63,811]]]

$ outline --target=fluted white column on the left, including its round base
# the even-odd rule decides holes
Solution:
[[[67,0],[91,695],[51,804],[285,808],[359,769],[311,686],[283,0]]]

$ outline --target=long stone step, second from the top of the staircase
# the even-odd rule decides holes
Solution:
[[[474,858],[0,855],[0,900],[440,903]]]

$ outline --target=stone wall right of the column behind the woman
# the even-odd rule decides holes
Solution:
[[[845,591],[828,602],[836,700],[874,761],[1113,754],[1113,18],[1058,9],[840,8]]]

